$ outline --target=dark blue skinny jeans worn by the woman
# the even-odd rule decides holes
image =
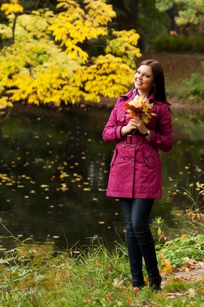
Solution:
[[[159,276],[155,244],[148,225],[153,203],[154,199],[120,198],[133,281],[143,281],[142,256],[148,279]]]

